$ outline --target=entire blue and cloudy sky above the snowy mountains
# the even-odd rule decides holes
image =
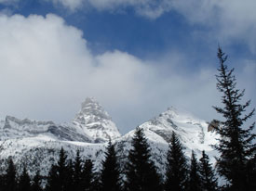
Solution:
[[[0,0],[0,117],[69,122],[89,96],[122,134],[168,107],[221,119],[212,108],[222,106],[218,45],[246,90],[242,103],[255,108],[255,8],[255,0]]]

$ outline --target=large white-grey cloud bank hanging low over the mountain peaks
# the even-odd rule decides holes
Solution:
[[[159,62],[168,72],[118,50],[93,55],[83,32],[60,17],[0,15],[0,116],[70,121],[87,96],[94,96],[123,133],[164,111],[185,108],[211,120],[219,103],[215,69],[177,70],[189,58],[173,54]],[[255,95],[255,60],[241,67],[241,84]],[[180,69],[182,70],[182,69]],[[185,70],[185,69],[184,69]]]

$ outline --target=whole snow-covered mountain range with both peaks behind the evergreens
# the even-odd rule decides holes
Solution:
[[[200,157],[206,150],[212,161],[216,153],[209,146],[216,144],[216,134],[208,132],[208,123],[190,114],[168,108],[158,117],[140,126],[152,148],[153,159],[160,171],[165,172],[170,134],[179,135],[188,157],[195,150]],[[56,162],[61,146],[74,159],[76,149],[85,159],[93,159],[95,166],[101,168],[104,150],[111,138],[121,163],[125,163],[135,130],[121,136],[109,114],[93,98],[82,103],[74,121],[55,124],[52,121],[19,120],[7,116],[0,122],[0,159],[13,157],[20,164],[28,164],[31,173],[38,168],[47,174],[52,162]],[[34,171],[33,171],[34,170]]]

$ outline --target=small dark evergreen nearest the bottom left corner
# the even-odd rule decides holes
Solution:
[[[7,161],[7,174],[4,175],[4,189],[5,191],[16,191],[17,181],[16,181],[16,167],[12,159]]]

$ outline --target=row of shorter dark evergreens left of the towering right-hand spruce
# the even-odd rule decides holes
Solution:
[[[124,172],[120,170],[115,144],[111,141],[106,148],[105,159],[101,161],[100,172],[94,171],[91,159],[84,161],[81,158],[79,150],[72,160],[67,159],[65,150],[61,148],[58,162],[51,166],[47,177],[36,172],[33,179],[25,166],[18,176],[12,159],[9,159],[7,171],[0,177],[1,188],[5,191],[217,190],[217,178],[209,157],[203,151],[197,161],[193,152],[189,165],[175,133],[169,145],[165,180],[151,159],[151,148],[141,128],[136,129],[131,144]]]

